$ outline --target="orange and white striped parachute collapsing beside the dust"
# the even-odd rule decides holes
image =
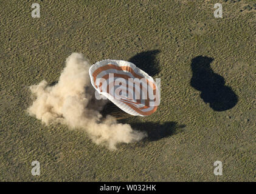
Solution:
[[[90,67],[89,75],[100,95],[130,115],[151,115],[160,103],[154,79],[131,62],[99,61]]]

